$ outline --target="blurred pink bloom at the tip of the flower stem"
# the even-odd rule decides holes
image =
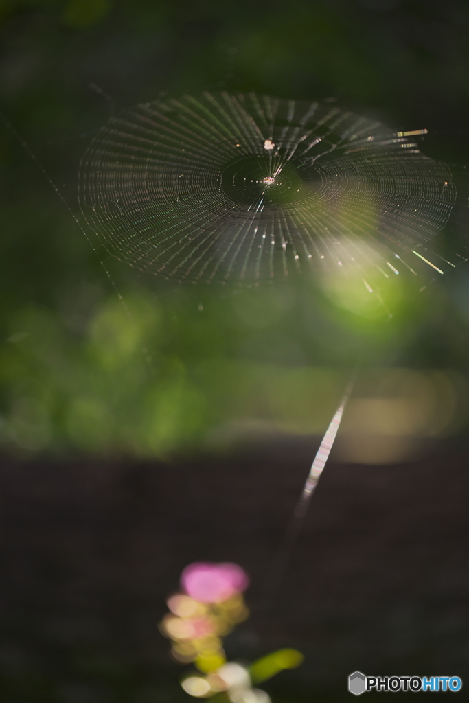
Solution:
[[[248,588],[248,574],[237,564],[194,562],[181,574],[181,586],[194,600],[217,603]]]

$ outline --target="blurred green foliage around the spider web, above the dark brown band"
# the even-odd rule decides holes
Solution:
[[[3,0],[0,18],[2,109],[80,221],[87,143],[113,110],[163,93],[338,97],[397,128],[451,129],[422,148],[466,159],[463,2]],[[0,160],[9,450],[224,451],[250,434],[321,432],[359,354],[468,371],[464,267],[420,297],[392,281],[392,321],[340,281],[223,295],[172,288],[94,252],[8,129]]]

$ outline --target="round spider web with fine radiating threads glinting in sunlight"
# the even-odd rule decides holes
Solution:
[[[424,133],[255,93],[145,103],[91,143],[80,206],[111,255],[179,281],[433,276],[458,263],[434,246],[456,188]]]

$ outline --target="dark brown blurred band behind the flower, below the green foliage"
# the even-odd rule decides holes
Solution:
[[[236,561],[252,578],[231,657],[304,652],[300,669],[265,684],[276,702],[349,699],[355,669],[467,678],[464,446],[409,465],[329,465],[276,606],[259,607],[312,451],[279,444],[184,465],[4,460],[2,701],[186,699],[158,621],[181,568],[200,559]]]

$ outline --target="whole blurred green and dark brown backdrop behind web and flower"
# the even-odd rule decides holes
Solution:
[[[163,94],[338,98],[395,129],[429,129],[422,150],[458,179],[468,161],[463,1],[2,0],[0,21],[1,110],[80,222],[84,148],[113,111]],[[188,699],[157,625],[181,568],[200,558],[252,576],[253,614],[227,643],[232,657],[306,655],[266,685],[274,703],[347,699],[354,669],[464,678],[462,411],[418,461],[331,464],[275,610],[258,603],[356,349],[370,366],[468,378],[467,264],[392,327],[297,289],[259,297],[250,317],[249,296],[150,289],[113,269],[129,321],[103,254],[20,141],[0,131],[2,700]],[[465,235],[463,200],[449,238]],[[309,366],[329,374],[328,390],[292,410],[288,374],[301,385]],[[290,409],[266,417],[259,393],[274,383]],[[295,432],[308,413],[316,419]],[[207,453],[239,418],[269,420],[269,442]]]

